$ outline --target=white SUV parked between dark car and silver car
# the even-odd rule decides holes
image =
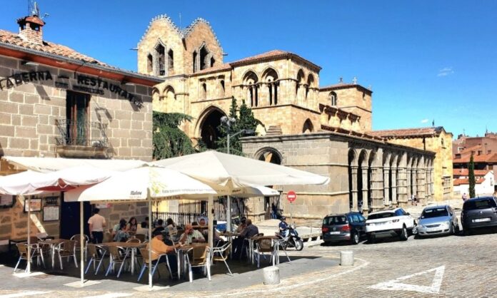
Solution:
[[[399,237],[406,241],[415,226],[413,217],[402,208],[373,212],[366,220],[366,236],[370,243],[379,237]]]

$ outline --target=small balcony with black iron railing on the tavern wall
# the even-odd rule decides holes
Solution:
[[[111,158],[106,130],[100,122],[84,122],[56,119],[59,132],[56,136],[56,151],[63,158]]]

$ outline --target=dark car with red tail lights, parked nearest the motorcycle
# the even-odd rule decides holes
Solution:
[[[350,241],[356,245],[366,235],[366,219],[359,212],[326,215],[323,219],[323,241],[325,243]]]

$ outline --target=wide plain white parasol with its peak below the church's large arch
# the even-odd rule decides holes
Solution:
[[[152,164],[178,170],[210,185],[228,187],[229,190],[253,185],[326,185],[330,180],[303,170],[214,150],[158,160]],[[226,213],[228,229],[231,230],[231,200],[228,200]],[[209,229],[210,238],[211,232]]]

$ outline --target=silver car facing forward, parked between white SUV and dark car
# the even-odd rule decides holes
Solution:
[[[449,205],[424,208],[416,227],[418,237],[451,235],[459,232],[456,212]]]

